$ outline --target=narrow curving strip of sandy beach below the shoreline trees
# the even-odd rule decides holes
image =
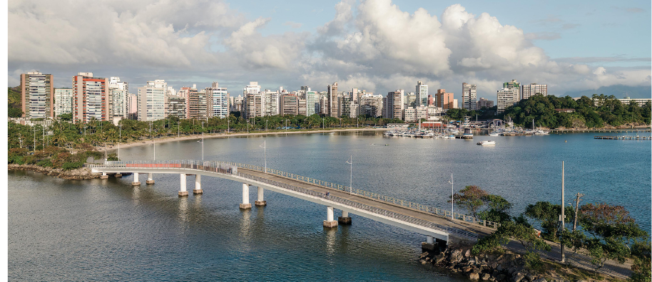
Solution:
[[[259,135],[287,135],[287,134],[310,134],[310,133],[328,133],[328,132],[345,132],[345,131],[386,131],[386,130],[389,129],[364,127],[364,128],[347,128],[347,129],[332,129],[332,130],[287,131],[287,132],[255,132],[255,133],[238,132],[238,133],[212,133],[212,134],[204,133],[203,137],[204,139],[208,139],[208,138],[230,138],[230,137],[243,137],[243,136],[259,136]],[[183,141],[183,140],[199,140],[201,139],[201,137],[202,135],[165,137],[161,139],[157,138],[154,142],[163,143],[163,142]],[[121,143],[120,148],[125,149],[130,147],[138,147],[138,146],[150,145],[151,143],[152,143],[151,139],[134,141],[129,143]],[[104,147],[97,147],[96,149],[100,152],[104,152]],[[118,150],[117,145],[108,146],[106,148],[107,152],[113,152],[116,150]]]

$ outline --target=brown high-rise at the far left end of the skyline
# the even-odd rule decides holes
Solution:
[[[23,117],[54,117],[53,75],[38,71],[21,74],[21,110]]]

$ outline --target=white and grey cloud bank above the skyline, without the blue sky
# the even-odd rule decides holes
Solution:
[[[264,88],[325,90],[338,82],[342,89],[381,94],[412,92],[420,80],[433,93],[477,84],[479,96],[489,98],[511,79],[564,91],[650,83],[649,69],[596,64],[649,58],[546,56],[533,42],[558,39],[555,31],[579,26],[554,15],[536,22],[550,31],[524,33],[460,4],[439,15],[404,11],[390,0],[345,0],[334,8],[332,20],[314,32],[263,35],[260,30],[278,19],[249,19],[223,1],[10,1],[9,83],[16,73],[35,69],[55,75],[102,71],[133,85],[156,78],[182,85],[218,80],[237,89],[258,80]]]

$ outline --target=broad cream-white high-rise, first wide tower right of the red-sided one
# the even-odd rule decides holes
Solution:
[[[167,117],[168,83],[157,79],[138,88],[138,120],[162,120]]]

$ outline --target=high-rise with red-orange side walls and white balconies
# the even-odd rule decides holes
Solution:
[[[93,73],[77,73],[73,76],[73,120],[110,120],[110,96],[108,78],[95,78]]]

